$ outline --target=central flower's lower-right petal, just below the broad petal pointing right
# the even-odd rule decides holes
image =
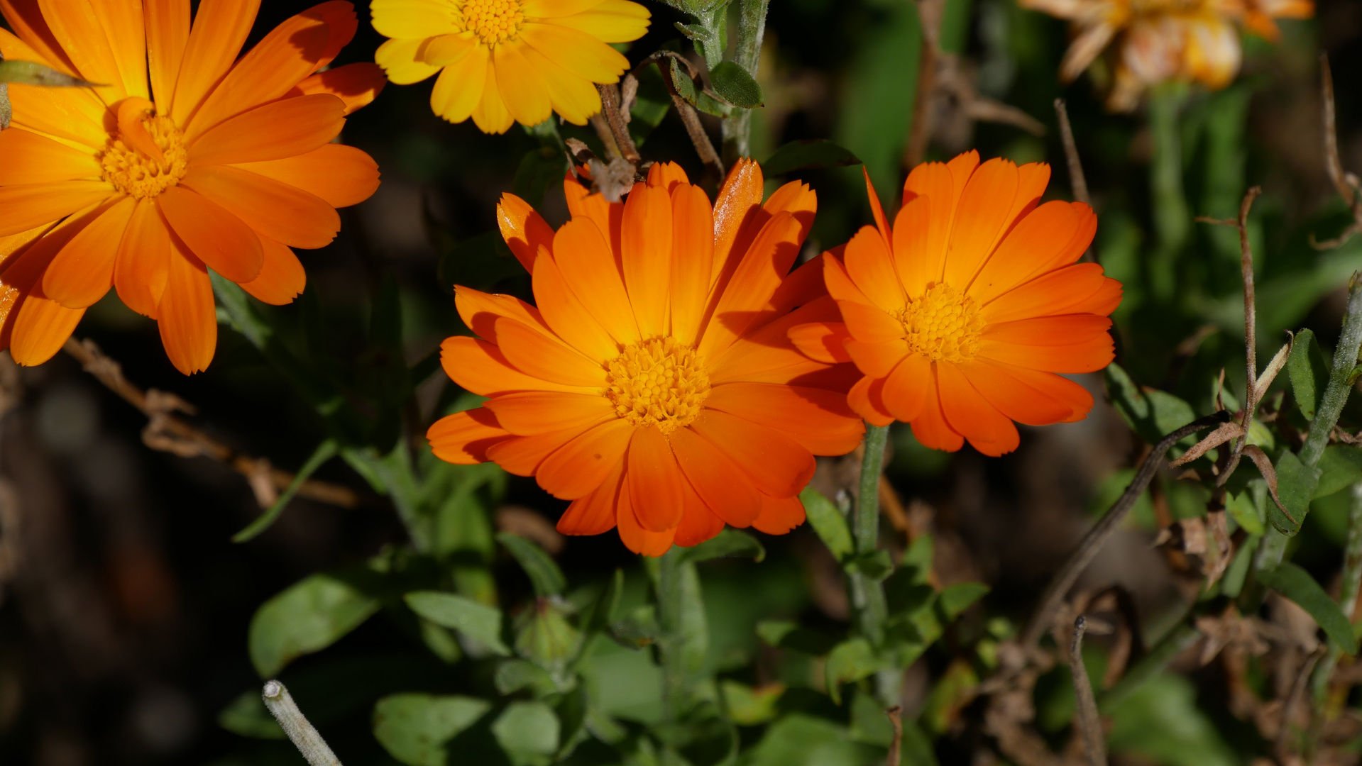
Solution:
[[[795,495],[813,476],[814,461],[809,450],[765,426],[704,410],[691,427],[737,463],[763,493]]]

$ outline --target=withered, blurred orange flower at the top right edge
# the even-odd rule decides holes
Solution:
[[[1275,19],[1308,19],[1313,0],[1022,0],[1023,8],[1073,22],[1075,39],[1060,76],[1073,80],[1115,41],[1115,79],[1107,106],[1136,107],[1151,86],[1194,80],[1216,90],[1239,72],[1242,24],[1268,41]]]

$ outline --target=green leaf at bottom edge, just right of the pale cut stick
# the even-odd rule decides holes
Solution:
[[[394,694],[373,706],[373,736],[410,766],[458,763],[449,740],[492,709],[485,699],[459,695]]]

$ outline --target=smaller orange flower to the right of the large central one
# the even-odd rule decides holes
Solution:
[[[1083,203],[1036,207],[1050,167],[968,152],[917,166],[893,229],[874,189],[866,226],[824,253],[842,321],[793,327],[810,358],[865,373],[847,400],[866,420],[913,423],[918,441],[985,454],[1017,448],[1013,420],[1081,420],[1092,396],[1056,373],[1111,362],[1107,316],[1121,283],[1075,264],[1096,216]]]

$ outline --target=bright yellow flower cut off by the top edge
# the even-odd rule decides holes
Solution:
[[[537,125],[557,112],[584,125],[601,110],[592,83],[616,83],[629,61],[610,42],[639,39],[648,10],[628,0],[373,0],[376,54],[388,79],[440,72],[430,107],[486,133]]]

